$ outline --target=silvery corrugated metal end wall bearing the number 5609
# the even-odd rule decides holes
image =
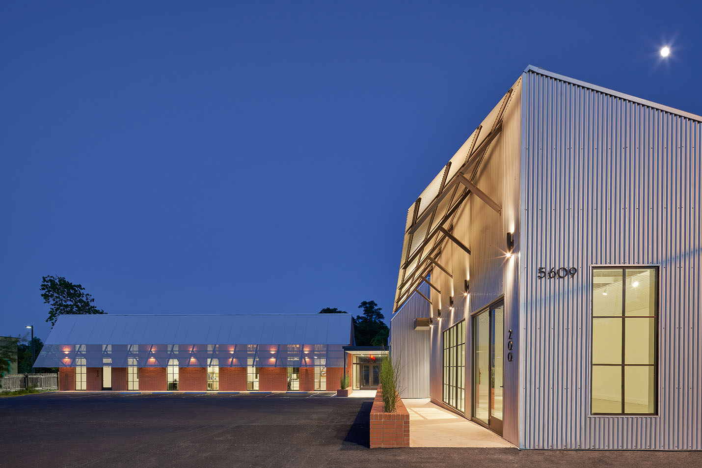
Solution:
[[[523,83],[520,446],[702,449],[702,124],[533,70]],[[589,415],[590,267],[608,264],[660,266],[658,416]]]

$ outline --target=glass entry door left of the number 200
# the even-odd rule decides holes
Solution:
[[[502,435],[505,303],[473,316],[473,420]]]

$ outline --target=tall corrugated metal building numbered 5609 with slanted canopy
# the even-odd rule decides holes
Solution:
[[[702,450],[701,148],[702,117],[527,67],[408,210],[402,396],[519,448]]]

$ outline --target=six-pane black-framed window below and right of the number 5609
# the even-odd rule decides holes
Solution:
[[[657,268],[592,269],[592,414],[655,414]]]

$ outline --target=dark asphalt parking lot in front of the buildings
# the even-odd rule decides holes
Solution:
[[[0,398],[0,467],[702,467],[702,453],[368,448],[371,400],[332,394]]]

